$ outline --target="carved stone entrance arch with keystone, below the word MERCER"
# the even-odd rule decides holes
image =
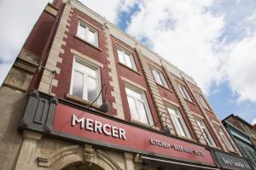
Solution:
[[[40,170],[122,170],[104,151],[90,144],[67,146],[49,156],[39,156],[38,166]]]

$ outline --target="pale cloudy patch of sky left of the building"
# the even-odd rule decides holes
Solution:
[[[0,1],[0,84],[49,0]]]

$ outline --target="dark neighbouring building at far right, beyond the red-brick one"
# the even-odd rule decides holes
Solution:
[[[251,161],[256,169],[256,131],[253,125],[233,114],[224,118],[222,122],[235,141],[241,155]]]

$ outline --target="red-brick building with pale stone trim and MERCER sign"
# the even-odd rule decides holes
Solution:
[[[77,0],[44,8],[0,107],[4,170],[253,169],[191,77]]]

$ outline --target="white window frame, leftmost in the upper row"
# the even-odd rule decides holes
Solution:
[[[79,36],[79,26],[81,27],[84,27],[85,28],[85,37],[80,37]],[[88,41],[88,32],[89,31],[92,31],[95,33],[95,42],[92,43],[92,42],[89,42]],[[77,37],[80,37],[81,39],[83,39],[84,41],[94,45],[95,47],[99,47],[99,32],[96,28],[94,28],[93,26],[90,26],[89,24],[85,23],[84,21],[82,20],[79,20],[79,24],[78,24],[78,28],[77,28]]]

